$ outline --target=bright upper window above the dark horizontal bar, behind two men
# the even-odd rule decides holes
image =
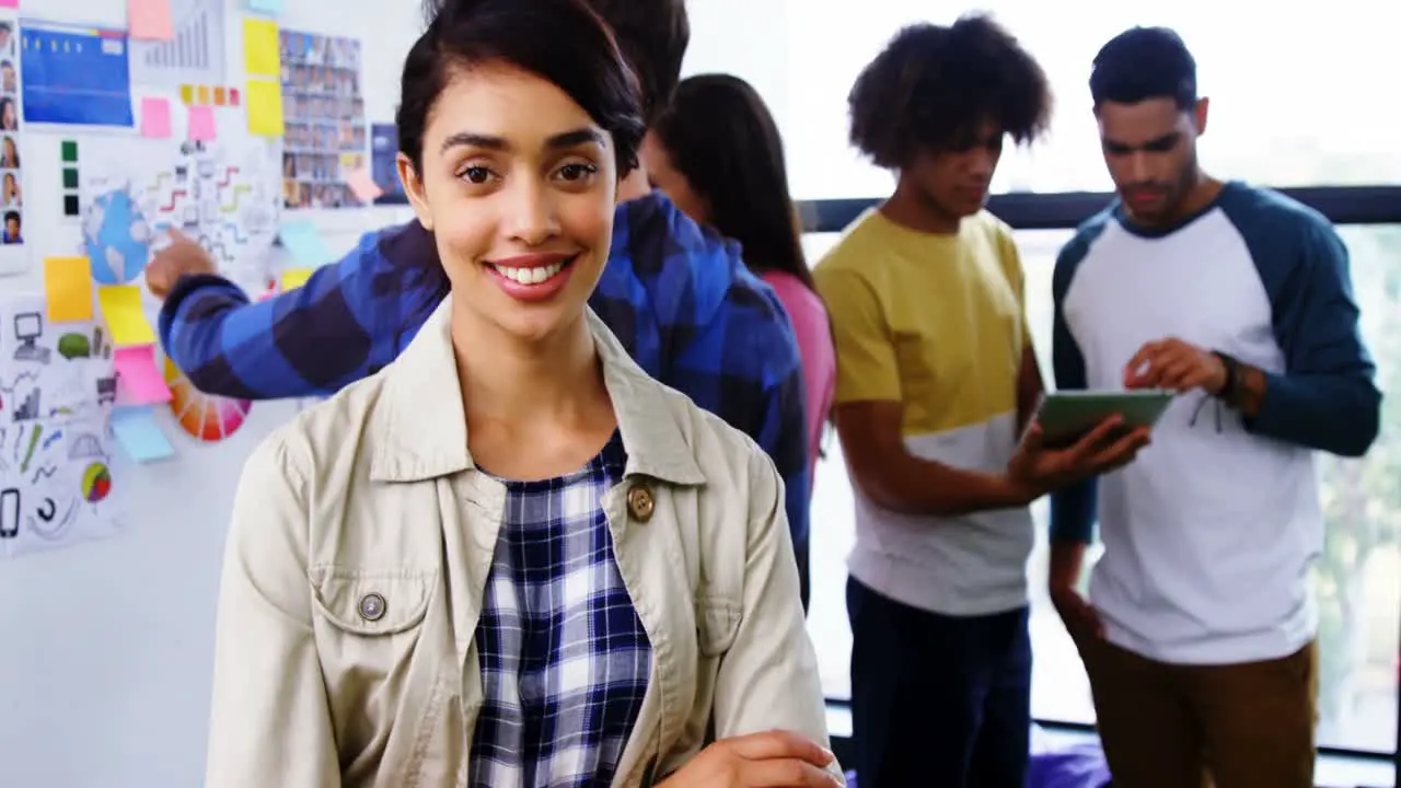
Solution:
[[[794,196],[884,195],[890,175],[848,144],[848,90],[899,27],[947,24],[976,6],[883,0],[852,14],[845,4],[786,3],[775,20],[785,31],[786,80],[775,79],[773,45],[752,67],[737,53],[726,67],[752,73],[779,114]],[[1380,74],[1401,72],[1398,3],[1330,3],[1328,18],[1356,22],[1345,27],[1321,25],[1309,4],[1271,6],[1268,31],[1248,3],[1083,0],[1073,24],[1063,6],[1042,0],[984,7],[1035,55],[1056,98],[1049,137],[1031,150],[1009,149],[995,192],[1108,189],[1090,111],[1090,63],[1104,42],[1135,24],[1173,27],[1196,56],[1202,95],[1212,98],[1202,140],[1208,168],[1274,186],[1401,182],[1395,105],[1377,93]]]

